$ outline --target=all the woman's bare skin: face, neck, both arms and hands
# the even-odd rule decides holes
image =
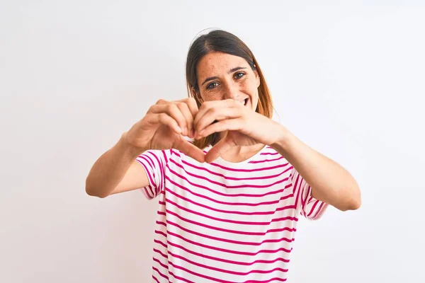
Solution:
[[[135,161],[149,149],[178,149],[200,163],[210,163],[219,156],[244,161],[268,145],[294,166],[312,187],[314,198],[341,211],[360,207],[361,192],[348,171],[283,125],[255,112],[261,80],[245,59],[212,52],[200,59],[197,70],[199,91],[192,91],[200,108],[194,98],[158,100],[94,163],[86,178],[89,195],[107,197],[149,185],[144,168]],[[220,133],[220,141],[208,154],[184,138],[214,132]]]

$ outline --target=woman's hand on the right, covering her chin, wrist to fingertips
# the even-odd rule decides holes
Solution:
[[[234,99],[203,103],[193,121],[195,138],[208,137],[215,132],[227,132],[208,151],[205,161],[210,163],[232,146],[271,145],[283,132],[282,125],[242,105]]]

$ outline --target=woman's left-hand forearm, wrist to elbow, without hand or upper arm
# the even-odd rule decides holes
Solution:
[[[123,180],[135,158],[145,151],[130,146],[125,140],[125,134],[94,163],[86,178],[87,194],[98,197],[110,195]]]

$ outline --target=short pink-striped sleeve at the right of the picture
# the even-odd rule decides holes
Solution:
[[[291,173],[291,180],[297,212],[310,220],[317,220],[321,218],[327,209],[328,204],[312,197],[312,188],[301,177],[300,173],[295,170],[295,168],[293,168]]]

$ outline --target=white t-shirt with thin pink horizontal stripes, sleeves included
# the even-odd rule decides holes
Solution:
[[[285,282],[298,216],[327,208],[270,146],[240,163],[176,149],[137,161],[149,177],[142,190],[159,199],[152,282]]]

